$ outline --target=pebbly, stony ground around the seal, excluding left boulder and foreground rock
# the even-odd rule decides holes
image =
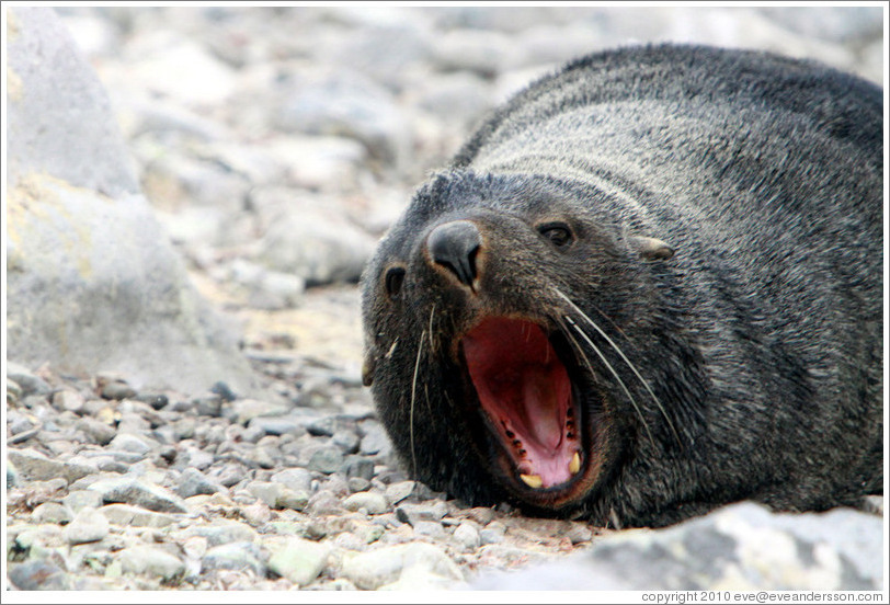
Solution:
[[[361,267],[412,187],[533,77],[675,38],[880,81],[876,13],[832,11],[62,11],[146,195],[265,391],[9,364],[12,584],[457,587],[608,533],[470,509],[408,480],[360,381]]]

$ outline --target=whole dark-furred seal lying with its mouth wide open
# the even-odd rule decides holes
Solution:
[[[469,504],[659,526],[882,491],[882,93],[708,47],[494,112],[363,276],[365,383]]]

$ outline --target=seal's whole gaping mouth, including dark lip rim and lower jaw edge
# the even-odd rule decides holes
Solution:
[[[511,491],[545,507],[583,498],[598,465],[585,455],[585,413],[547,331],[527,319],[487,317],[460,349]]]

